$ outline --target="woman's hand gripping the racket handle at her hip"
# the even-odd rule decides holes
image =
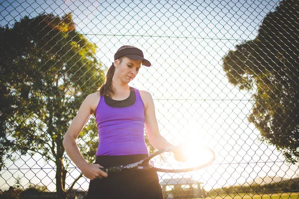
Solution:
[[[98,178],[102,179],[103,177],[107,178],[108,174],[105,173],[103,170],[101,170],[101,168],[103,167],[99,164],[87,163],[87,165],[84,165],[79,169],[81,170],[81,172],[86,178],[90,180],[95,180]]]

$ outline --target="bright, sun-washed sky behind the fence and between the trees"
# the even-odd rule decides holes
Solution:
[[[72,12],[76,30],[98,46],[97,58],[106,70],[116,50],[125,44],[144,50],[152,66],[142,68],[131,86],[151,93],[160,133],[173,144],[195,141],[216,154],[214,163],[189,173],[158,173],[160,179],[192,177],[205,189],[234,185],[257,177],[298,177],[298,165],[288,165],[281,152],[260,140],[247,116],[255,91],[232,86],[222,69],[222,57],[234,46],[254,39],[264,17],[278,0],[5,0],[0,25],[28,15]],[[55,189],[53,165],[42,157],[7,161],[0,189],[22,183],[43,183]],[[19,169],[21,168],[21,169]],[[31,168],[31,169],[28,169]],[[43,169],[40,169],[43,168]],[[71,170],[67,183],[79,175]],[[42,180],[40,180],[42,179]],[[82,178],[75,186],[88,188]]]

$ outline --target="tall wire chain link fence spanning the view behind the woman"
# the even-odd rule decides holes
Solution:
[[[158,173],[164,198],[298,199],[298,27],[298,0],[2,0],[0,198],[84,198],[63,135],[134,45],[152,66],[131,86],[151,93],[160,133],[216,154]],[[92,117],[78,139],[91,163],[97,142]]]

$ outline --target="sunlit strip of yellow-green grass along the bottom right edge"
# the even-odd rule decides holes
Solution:
[[[242,194],[218,195],[215,197],[208,196],[205,199],[299,199],[299,192],[281,193],[281,194],[264,194],[264,195],[242,193]]]

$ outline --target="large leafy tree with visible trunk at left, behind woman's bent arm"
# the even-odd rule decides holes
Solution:
[[[12,28],[0,27],[0,43],[1,105],[5,103],[0,105],[0,147],[13,144],[12,153],[40,154],[52,161],[57,195],[64,199],[62,140],[82,100],[104,82],[97,47],[76,32],[71,14],[26,16]],[[93,119],[90,123],[79,146],[87,149],[83,156],[92,162],[97,130]]]

